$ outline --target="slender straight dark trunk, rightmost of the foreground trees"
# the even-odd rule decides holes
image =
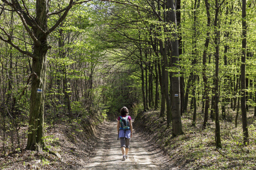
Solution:
[[[243,123],[243,138],[244,144],[249,144],[249,134],[247,128],[247,115],[246,115],[246,93],[245,93],[245,63],[246,63],[246,0],[242,0],[242,57],[241,57],[241,112]]]

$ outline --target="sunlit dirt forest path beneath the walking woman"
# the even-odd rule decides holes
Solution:
[[[160,169],[152,160],[156,157],[156,151],[149,151],[145,140],[136,134],[133,129],[133,136],[130,141],[128,158],[121,161],[122,153],[120,140],[117,140],[116,122],[106,122],[107,129],[101,128],[98,133],[100,140],[96,153],[88,165],[81,170],[157,170]],[[152,150],[152,149],[151,149]]]

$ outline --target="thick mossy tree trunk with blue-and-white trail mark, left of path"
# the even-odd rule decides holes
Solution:
[[[36,22],[40,28],[47,30],[47,0],[36,1]],[[26,149],[42,151],[45,146],[44,136],[44,101],[45,101],[45,83],[46,83],[46,54],[50,46],[47,43],[47,34],[40,29],[35,28],[35,38],[39,43],[35,44],[32,60],[32,83],[30,96],[28,141]]]

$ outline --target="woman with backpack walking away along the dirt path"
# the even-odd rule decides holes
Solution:
[[[128,116],[129,111],[126,107],[123,107],[120,111],[120,115],[118,117],[118,122],[117,122],[117,131],[119,131],[119,138],[121,142],[121,150],[123,154],[122,161],[125,161],[128,157],[128,151],[130,148],[130,138],[132,137],[132,118]],[[121,120],[121,121],[120,121]],[[129,123],[129,128],[127,130],[123,130],[122,127],[120,127],[121,122],[127,122]],[[123,123],[121,123],[123,125]],[[120,127],[120,128],[119,128]],[[124,126],[123,126],[124,127]],[[127,127],[125,127],[127,128]]]

